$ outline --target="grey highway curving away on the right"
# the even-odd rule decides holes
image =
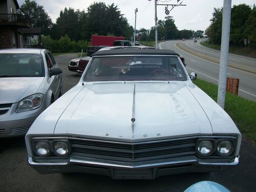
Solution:
[[[207,54],[208,57],[219,58],[220,52],[212,49],[205,48],[194,42],[194,40],[174,40],[162,42],[159,46],[161,49],[173,49],[185,58],[187,63],[187,71],[189,73],[196,72],[198,78],[204,79],[206,81],[218,84],[219,79],[219,64],[212,62],[201,57],[195,56],[188,53],[176,46],[176,43],[180,42],[185,45],[186,48],[193,50],[194,52],[200,52]],[[238,61],[239,60],[239,61]],[[253,101],[256,101],[256,73],[250,73],[251,69],[256,71],[256,59],[238,56],[234,54],[229,54],[229,65],[237,66],[245,70],[240,70],[238,68],[228,67],[227,76],[233,78],[239,78],[239,92],[238,95]]]

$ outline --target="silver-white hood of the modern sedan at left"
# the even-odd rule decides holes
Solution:
[[[15,103],[37,93],[44,77],[0,78],[0,103]]]

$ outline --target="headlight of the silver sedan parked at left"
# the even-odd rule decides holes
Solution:
[[[41,106],[44,95],[36,93],[20,100],[16,109],[16,112],[24,112],[37,109]]]

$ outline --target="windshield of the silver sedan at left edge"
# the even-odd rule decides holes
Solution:
[[[45,70],[40,54],[0,54],[0,77],[44,77]]]

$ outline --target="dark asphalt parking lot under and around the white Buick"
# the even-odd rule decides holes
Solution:
[[[62,71],[63,92],[67,92],[80,76],[68,71],[68,62],[76,55],[55,56]],[[179,174],[155,180],[112,180],[90,174],[41,175],[27,163],[23,137],[0,139],[0,191],[184,191],[190,185],[208,180],[218,182],[231,191],[255,191],[256,150],[242,141],[240,163],[228,170],[210,174]]]

